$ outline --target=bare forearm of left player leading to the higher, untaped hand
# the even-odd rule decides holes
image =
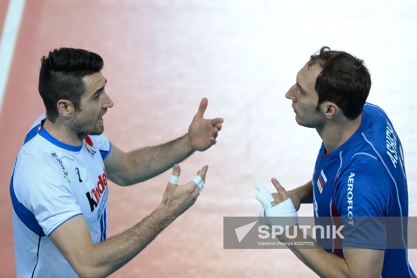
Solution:
[[[126,185],[151,179],[183,161],[193,152],[188,134],[165,144],[129,152],[128,167],[123,174]]]

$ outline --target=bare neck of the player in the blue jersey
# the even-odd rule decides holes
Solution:
[[[323,127],[316,128],[317,133],[323,140],[327,153],[333,152],[342,146],[361,126],[362,114],[354,120],[348,120],[341,116],[338,119],[328,121]]]

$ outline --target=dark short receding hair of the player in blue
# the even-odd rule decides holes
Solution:
[[[371,76],[364,61],[323,46],[310,56],[309,66],[317,63],[322,67],[315,85],[319,95],[317,105],[333,102],[342,109],[344,116],[356,119],[371,89]]]

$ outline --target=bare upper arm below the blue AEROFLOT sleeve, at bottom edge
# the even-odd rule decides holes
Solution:
[[[343,248],[351,277],[381,277],[384,250]]]

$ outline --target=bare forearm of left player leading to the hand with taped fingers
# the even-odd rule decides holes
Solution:
[[[171,222],[172,214],[158,207],[130,229],[90,246],[88,276],[106,277],[141,252]]]

